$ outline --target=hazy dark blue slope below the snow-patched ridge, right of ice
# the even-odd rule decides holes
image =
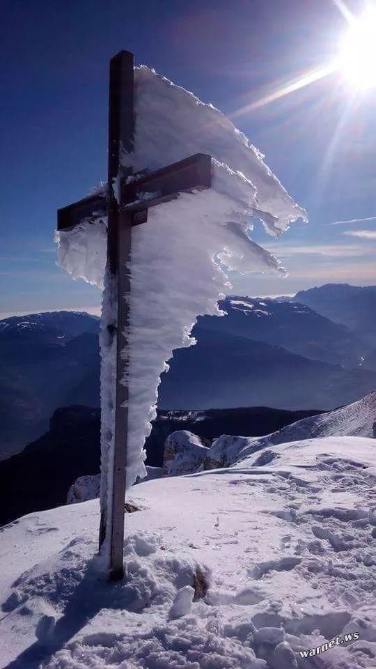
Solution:
[[[195,328],[198,344],[174,351],[159,408],[278,406],[331,409],[376,387],[375,372],[344,369],[246,337]]]

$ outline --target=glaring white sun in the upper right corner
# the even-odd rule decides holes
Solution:
[[[368,6],[353,17],[340,43],[338,68],[352,86],[367,90],[376,86],[376,8]]]

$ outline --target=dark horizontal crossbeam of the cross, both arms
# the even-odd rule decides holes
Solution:
[[[136,177],[121,187],[123,209],[134,214],[134,224],[146,220],[146,211],[162,202],[179,197],[182,192],[210,188],[212,158],[196,153],[169,167],[162,167]],[[143,212],[145,214],[143,214]],[[103,195],[85,197],[74,204],[58,209],[58,230],[70,230],[84,219],[107,214],[107,198]]]

